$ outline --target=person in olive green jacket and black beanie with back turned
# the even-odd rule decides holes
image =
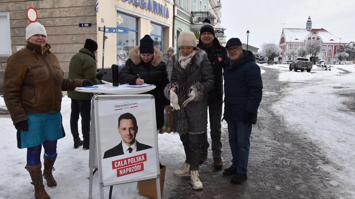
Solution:
[[[69,79],[88,79],[99,84],[96,75],[95,53],[97,43],[92,39],[86,39],[85,45],[70,60]],[[101,74],[98,74],[100,77]],[[90,145],[90,120],[91,120],[91,94],[77,91],[68,91],[71,98],[70,129],[74,139],[74,148],[82,146],[89,149]],[[78,120],[81,116],[81,133],[83,141],[79,137]]]

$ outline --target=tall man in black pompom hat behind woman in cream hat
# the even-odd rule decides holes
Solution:
[[[207,52],[208,60],[211,62],[213,70],[214,85],[208,92],[208,111],[209,111],[209,127],[211,129],[213,165],[215,169],[220,169],[223,166],[221,159],[221,119],[223,106],[223,68],[225,61],[228,60],[225,48],[219,44],[219,41],[214,36],[214,27],[208,19],[203,21],[200,29],[200,41],[197,45],[199,49]],[[209,143],[206,136],[201,139],[201,155],[200,164],[202,164],[208,153]]]

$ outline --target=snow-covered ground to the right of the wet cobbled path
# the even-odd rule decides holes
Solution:
[[[320,148],[327,160],[318,168],[355,198],[354,65],[332,65],[331,71],[316,67],[311,73],[289,71],[286,64],[261,66],[280,70],[279,80],[290,83],[273,105],[274,112],[284,118],[289,132]]]

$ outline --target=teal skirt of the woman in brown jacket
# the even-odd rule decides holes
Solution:
[[[60,112],[49,114],[26,114],[28,131],[17,131],[17,147],[29,148],[46,140],[59,140],[65,136]]]

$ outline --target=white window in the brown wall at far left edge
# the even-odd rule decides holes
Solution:
[[[0,12],[0,56],[9,56],[11,50],[11,35],[10,35],[10,14],[9,12]]]

